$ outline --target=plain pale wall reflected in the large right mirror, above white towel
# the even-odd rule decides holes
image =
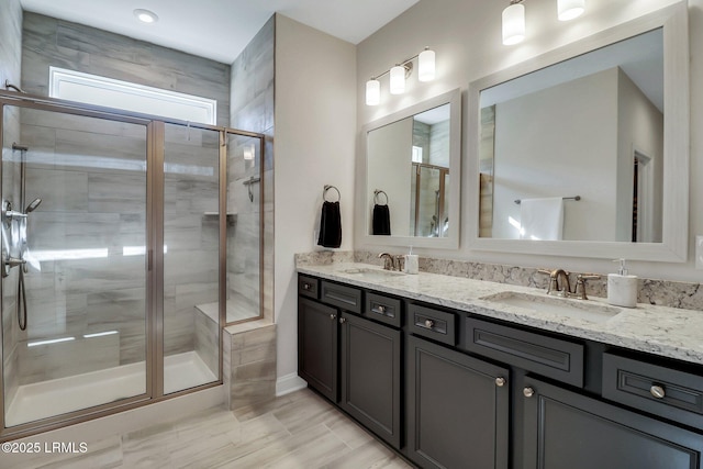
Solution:
[[[580,196],[565,202],[563,239],[615,241],[617,75],[611,68],[495,105],[493,237],[520,238],[509,221],[521,221],[517,199]]]

